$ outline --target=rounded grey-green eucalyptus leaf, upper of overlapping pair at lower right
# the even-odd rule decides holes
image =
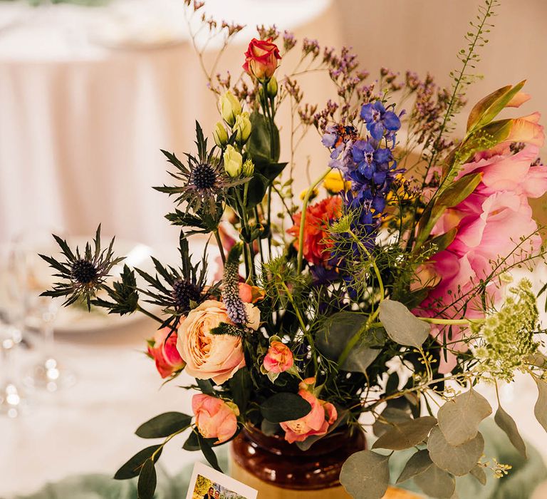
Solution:
[[[491,413],[492,408],[486,398],[469,390],[444,403],[437,413],[437,419],[447,442],[451,446],[459,446],[476,437],[479,423]]]

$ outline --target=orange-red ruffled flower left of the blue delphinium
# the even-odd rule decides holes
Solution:
[[[325,200],[308,206],[306,220],[304,222],[304,239],[302,254],[308,262],[314,265],[323,265],[330,260],[330,250],[333,241],[328,237],[328,225],[332,220],[340,217],[342,213],[342,198],[327,197]],[[302,213],[294,215],[294,225],[287,230],[288,234],[298,238]],[[294,242],[298,249],[298,239]]]

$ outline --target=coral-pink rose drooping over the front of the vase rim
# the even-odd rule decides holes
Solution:
[[[315,381],[313,378],[305,379],[299,385],[298,391],[298,395],[310,403],[311,411],[300,419],[281,423],[288,443],[303,442],[311,435],[325,435],[328,427],[338,418],[332,403],[319,400],[309,391]]]

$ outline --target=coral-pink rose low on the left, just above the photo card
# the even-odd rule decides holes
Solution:
[[[233,402],[197,393],[192,397],[196,426],[204,438],[217,438],[215,443],[229,440],[237,430],[239,408]]]

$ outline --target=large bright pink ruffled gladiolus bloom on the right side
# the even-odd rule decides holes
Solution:
[[[543,144],[543,128],[537,125],[538,114],[517,123],[521,127],[518,140],[528,140],[525,147],[513,153],[508,143],[500,144],[489,151],[475,156],[475,160],[463,165],[457,178],[469,173],[481,173],[482,178],[474,192],[459,205],[444,212],[432,231],[433,235],[457,228],[457,235],[444,251],[432,257],[427,264],[430,282],[438,282],[424,300],[420,314],[430,317],[459,318],[462,314],[469,319],[484,317],[481,297],[472,297],[463,309],[466,295],[492,271],[493,262],[505,261],[496,272],[532,254],[541,246],[541,238],[533,235],[537,225],[532,218],[528,197],[540,197],[547,192],[547,167],[536,164],[538,146]],[[528,133],[530,132],[530,133]],[[513,133],[513,132],[511,132]],[[517,135],[513,135],[516,137]],[[514,139],[515,140],[515,139]],[[523,238],[526,241],[521,242]],[[519,252],[509,254],[519,244]],[[424,272],[424,269],[421,269]],[[421,282],[422,276],[418,276]],[[484,290],[489,303],[502,296],[501,284],[490,283]],[[452,327],[450,349],[465,351],[467,345],[459,341],[464,328]],[[432,334],[446,334],[445,330],[432,328]],[[439,337],[442,342],[443,338]],[[448,373],[456,364],[456,356],[447,352],[447,359],[441,355],[439,372]]]

